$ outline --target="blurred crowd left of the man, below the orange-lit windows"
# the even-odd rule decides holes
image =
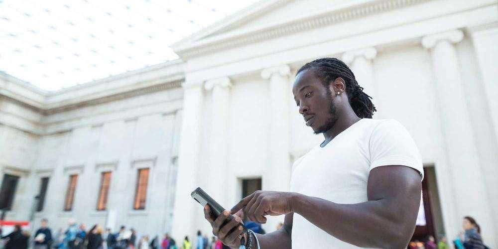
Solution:
[[[176,241],[164,234],[150,238],[148,235],[142,236],[139,240],[133,228],[126,229],[121,226],[120,230],[113,233],[111,229],[103,230],[96,224],[91,229],[86,230],[83,223],[76,223],[70,219],[66,230],[59,229],[55,234],[48,227],[48,221],[42,219],[40,228],[31,238],[27,230],[22,230],[20,225],[15,225],[13,232],[1,237],[4,249],[225,249],[226,247],[215,237],[208,239],[207,235],[202,236],[198,231],[196,247],[189,240],[188,236],[183,238],[183,242],[177,245]],[[1,246],[0,246],[1,248]]]

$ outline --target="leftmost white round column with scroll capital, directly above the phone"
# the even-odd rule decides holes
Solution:
[[[232,83],[228,77],[209,80],[205,89],[212,92],[211,132],[209,136],[209,179],[206,192],[217,200],[220,205],[230,209],[234,203],[228,203],[228,124],[230,87]]]

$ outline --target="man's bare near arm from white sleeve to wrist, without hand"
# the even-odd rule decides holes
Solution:
[[[406,248],[415,229],[421,189],[416,170],[381,166],[370,172],[367,202],[338,204],[295,194],[291,209],[344,242],[359,247]]]

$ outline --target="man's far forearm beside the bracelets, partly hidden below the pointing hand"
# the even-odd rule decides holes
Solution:
[[[291,234],[292,234],[292,219],[294,217],[293,213],[288,213],[285,215],[285,220],[283,222],[282,228],[279,230],[265,234],[257,235],[257,240],[259,241],[259,246],[261,249],[274,248],[274,249],[289,249],[291,248]],[[257,248],[255,241],[252,248]]]

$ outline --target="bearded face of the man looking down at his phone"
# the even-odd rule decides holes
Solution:
[[[313,70],[304,70],[296,76],[292,93],[299,113],[315,134],[334,126],[338,117],[332,93],[315,76]]]

